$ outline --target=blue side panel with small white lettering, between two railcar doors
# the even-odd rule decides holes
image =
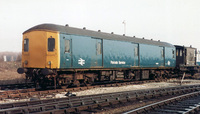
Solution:
[[[134,65],[134,45],[104,39],[103,60],[104,68],[129,68]]]

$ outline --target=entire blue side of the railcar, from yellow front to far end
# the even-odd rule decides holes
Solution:
[[[64,52],[65,40],[70,40],[69,53]],[[102,46],[101,54],[97,53],[98,43]],[[175,53],[174,47],[60,33],[60,68],[175,67]]]

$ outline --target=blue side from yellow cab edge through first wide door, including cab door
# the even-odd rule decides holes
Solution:
[[[71,42],[70,53],[64,53],[64,40]],[[60,68],[92,68],[102,67],[102,54],[97,54],[97,43],[101,39],[77,36],[60,35]]]

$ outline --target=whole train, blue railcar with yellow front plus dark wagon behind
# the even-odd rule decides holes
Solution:
[[[42,88],[168,78],[196,73],[196,54],[196,48],[152,39],[41,24],[23,33],[17,71]]]

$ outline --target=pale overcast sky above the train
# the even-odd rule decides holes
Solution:
[[[53,23],[200,49],[200,0],[0,0],[0,51],[21,51],[22,33]]]

